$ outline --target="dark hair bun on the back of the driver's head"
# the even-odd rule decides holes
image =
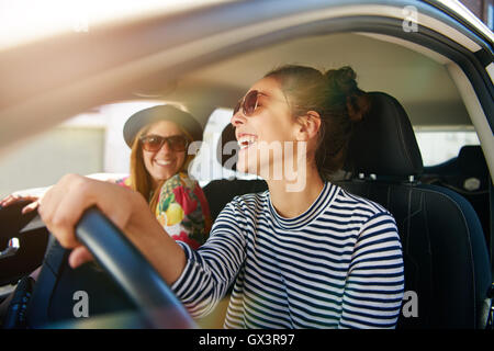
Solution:
[[[345,97],[348,117],[352,122],[359,122],[370,110],[370,99],[368,94],[357,86],[357,73],[349,66],[339,69],[329,69],[324,75],[333,91]]]

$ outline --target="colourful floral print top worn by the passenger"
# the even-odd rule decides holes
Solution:
[[[130,178],[116,182],[130,186]],[[175,239],[197,250],[211,229],[210,206],[199,183],[180,172],[162,184],[156,206],[156,218]]]

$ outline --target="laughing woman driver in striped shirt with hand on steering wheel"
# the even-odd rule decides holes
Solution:
[[[194,317],[235,281],[226,328],[394,328],[404,288],[394,218],[327,180],[369,107],[355,77],[348,67],[287,66],[249,89],[232,117],[237,168],[263,177],[269,190],[229,202],[197,251],[162,235],[136,192],[78,176],[47,192],[43,220],[74,249],[76,267],[90,254],[75,225],[97,205]],[[277,171],[287,165],[290,174]]]

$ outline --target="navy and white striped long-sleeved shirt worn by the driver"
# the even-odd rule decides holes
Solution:
[[[382,206],[325,183],[280,216],[269,191],[236,196],[171,288],[193,317],[235,281],[225,328],[394,328],[404,290],[396,225]]]

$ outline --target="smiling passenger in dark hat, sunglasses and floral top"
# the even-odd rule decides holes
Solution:
[[[124,125],[131,147],[131,176],[119,184],[139,192],[156,218],[176,240],[198,249],[211,228],[207,201],[187,169],[190,143],[202,139],[202,128],[187,112],[158,105],[133,114]]]

